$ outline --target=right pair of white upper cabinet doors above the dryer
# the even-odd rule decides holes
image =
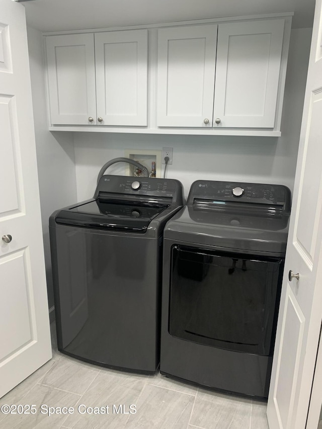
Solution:
[[[159,30],[157,126],[274,128],[283,34],[284,19]]]

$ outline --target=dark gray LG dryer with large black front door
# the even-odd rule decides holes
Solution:
[[[281,185],[192,184],[164,230],[162,374],[267,397],[290,206]]]

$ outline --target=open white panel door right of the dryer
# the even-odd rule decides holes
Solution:
[[[316,1],[267,416],[304,429],[322,318],[322,16]],[[297,274],[289,280],[290,270]],[[316,429],[316,426],[306,426]]]

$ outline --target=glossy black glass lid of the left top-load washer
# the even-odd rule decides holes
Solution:
[[[63,225],[145,232],[151,220],[169,205],[97,199],[61,210],[55,221]]]

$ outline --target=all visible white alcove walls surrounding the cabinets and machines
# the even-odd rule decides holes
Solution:
[[[166,177],[178,179],[187,198],[195,180],[283,184],[292,191],[311,29],[292,29],[281,137],[50,132],[42,33],[28,27],[37,163],[49,308],[53,308],[48,218],[57,207],[92,197],[97,173],[126,149],[173,147]],[[124,175],[117,163],[108,173]],[[162,175],[164,174],[164,165]],[[53,315],[53,311],[51,311]]]

